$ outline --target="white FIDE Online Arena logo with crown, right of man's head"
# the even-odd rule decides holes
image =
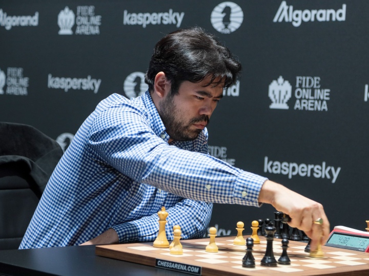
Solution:
[[[327,102],[330,100],[331,89],[322,88],[320,77],[297,76],[294,96],[295,110],[328,111]],[[272,104],[269,108],[289,109],[287,101],[291,98],[292,86],[283,80],[272,81],[269,85],[269,98]]]

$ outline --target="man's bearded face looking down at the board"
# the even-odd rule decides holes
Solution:
[[[205,78],[199,83],[184,81],[178,94],[169,93],[159,103],[159,114],[170,136],[169,143],[194,140],[209,124],[209,119],[223,95],[222,85],[204,86],[210,81]]]

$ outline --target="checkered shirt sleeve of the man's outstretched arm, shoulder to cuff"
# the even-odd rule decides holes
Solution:
[[[96,162],[183,198],[259,206],[259,192],[267,178],[208,154],[169,145],[134,108],[109,108],[102,113],[90,128],[89,145]]]

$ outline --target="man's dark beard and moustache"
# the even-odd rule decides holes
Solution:
[[[199,117],[192,118],[188,123],[183,119],[183,115],[177,110],[174,104],[174,97],[171,93],[166,99],[159,103],[160,118],[166,127],[168,135],[174,141],[192,141],[197,138],[202,129],[191,129],[191,126],[196,123],[207,122],[209,124],[209,116],[203,114]]]

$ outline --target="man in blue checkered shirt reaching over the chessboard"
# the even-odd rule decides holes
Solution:
[[[128,100],[101,101],[60,159],[19,248],[153,241],[157,212],[168,213],[167,236],[203,236],[212,203],[272,204],[290,225],[312,238],[322,205],[267,178],[208,154],[206,125],[223,89],[241,70],[213,36],[178,30],[154,49],[146,74],[149,91]]]

